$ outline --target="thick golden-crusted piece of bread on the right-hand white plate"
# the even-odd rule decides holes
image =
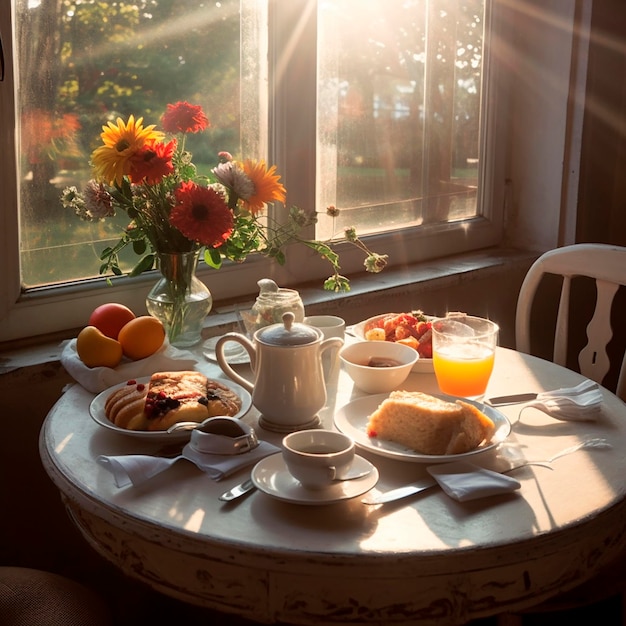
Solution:
[[[460,454],[490,441],[493,421],[473,404],[393,391],[369,416],[367,434],[420,454]]]

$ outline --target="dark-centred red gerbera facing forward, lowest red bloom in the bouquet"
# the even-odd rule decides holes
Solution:
[[[188,239],[218,248],[233,232],[233,214],[217,191],[189,181],[176,190],[170,224]]]

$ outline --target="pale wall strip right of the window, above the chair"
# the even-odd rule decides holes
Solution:
[[[544,251],[573,243],[592,0],[509,7],[511,85],[507,241]]]

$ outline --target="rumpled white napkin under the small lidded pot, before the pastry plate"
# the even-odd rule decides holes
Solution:
[[[222,480],[242,469],[260,461],[262,458],[280,452],[280,448],[261,441],[259,445],[243,454],[206,454],[198,452],[187,444],[180,456],[164,459],[147,454],[124,454],[120,456],[100,455],[96,460],[99,465],[113,474],[117,487],[140,485],[148,479],[164,472],[180,459],[191,461],[198,469],[213,480]]]

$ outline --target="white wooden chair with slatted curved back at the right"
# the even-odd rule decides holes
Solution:
[[[563,277],[554,338],[553,362],[566,365],[569,302],[572,278],[595,279],[596,307],[587,325],[587,344],[578,355],[580,373],[602,384],[611,363],[607,345],[613,337],[611,306],[621,285],[626,285],[626,248],[608,244],[581,243],[550,250],[530,267],[520,288],[515,319],[515,341],[520,352],[530,353],[531,308],[537,288],[546,274]],[[617,388],[626,400],[626,353],[623,356]]]

